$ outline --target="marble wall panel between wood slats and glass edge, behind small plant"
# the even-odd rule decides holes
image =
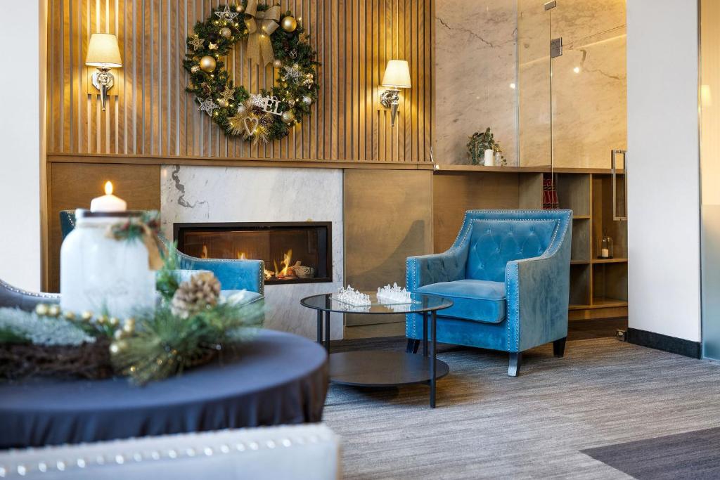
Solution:
[[[491,127],[508,163],[517,158],[516,7],[508,0],[436,0],[437,163],[469,163],[467,140]]]

